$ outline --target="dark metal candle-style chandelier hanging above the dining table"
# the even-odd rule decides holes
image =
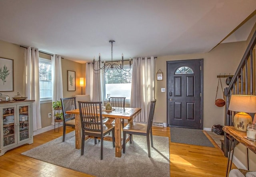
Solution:
[[[99,61],[98,61],[98,67],[95,69],[94,68],[94,64],[95,64],[95,57],[93,58],[93,70],[94,71],[99,71],[99,70],[104,70],[104,72],[106,73],[108,71],[108,69],[113,69],[115,68],[117,70],[118,73],[121,73],[122,70],[123,71],[130,71],[131,70],[131,58],[129,60],[130,62],[130,69],[129,70],[125,70],[124,67],[124,54],[122,54],[122,60],[120,60],[120,65],[113,63],[113,43],[115,43],[114,40],[110,40],[109,43],[111,44],[111,62],[107,62],[108,64],[106,64],[106,61],[104,61],[104,66],[100,67],[100,64],[102,62],[100,62],[100,54],[99,54]]]

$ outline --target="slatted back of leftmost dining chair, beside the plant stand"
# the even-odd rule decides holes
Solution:
[[[66,111],[76,109],[76,97],[61,98],[63,122],[66,123],[75,118],[74,114],[67,114]]]

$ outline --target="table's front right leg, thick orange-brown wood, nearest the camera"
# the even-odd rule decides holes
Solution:
[[[122,157],[121,119],[115,118],[115,152],[116,157]]]

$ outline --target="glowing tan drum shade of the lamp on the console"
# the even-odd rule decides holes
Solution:
[[[256,96],[231,95],[228,109],[236,112],[256,113]]]

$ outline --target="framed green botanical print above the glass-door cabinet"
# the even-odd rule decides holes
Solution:
[[[12,59],[0,58],[0,91],[14,91]]]

